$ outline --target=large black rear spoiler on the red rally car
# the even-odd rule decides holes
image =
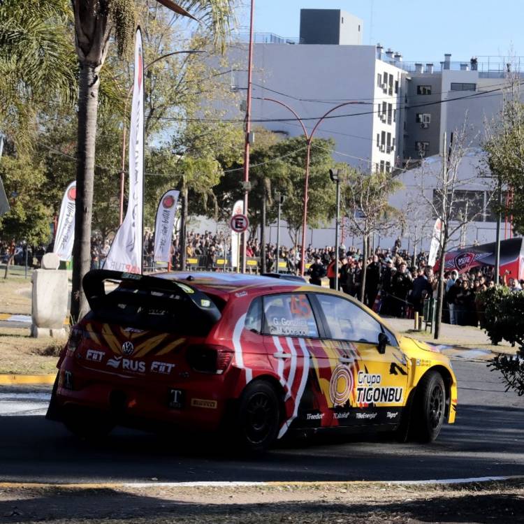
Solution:
[[[106,292],[105,282],[113,282],[119,286]],[[180,296],[184,296],[210,323],[217,323],[221,318],[217,305],[205,293],[193,286],[169,279],[95,269],[86,273],[82,286],[89,306],[95,313],[101,307],[119,303],[140,305],[146,309],[168,310],[179,304]]]

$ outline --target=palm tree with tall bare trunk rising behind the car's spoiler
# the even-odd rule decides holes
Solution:
[[[94,186],[96,118],[100,73],[108,54],[110,36],[115,37],[119,53],[133,39],[136,6],[134,0],[71,0],[75,17],[75,45],[80,63],[78,93],[78,149],[76,167],[75,243],[73,245],[73,289],[71,317],[87,312],[82,291],[82,277],[89,270],[91,255],[91,220]],[[217,42],[223,42],[233,0],[157,0],[178,15],[201,17],[212,29]]]

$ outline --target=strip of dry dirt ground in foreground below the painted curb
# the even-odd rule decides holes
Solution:
[[[0,488],[0,523],[523,523],[524,484]]]

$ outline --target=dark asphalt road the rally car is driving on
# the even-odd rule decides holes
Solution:
[[[104,444],[74,439],[45,421],[45,391],[0,398],[0,481],[351,481],[524,475],[524,399],[504,393],[485,363],[454,361],[456,425],[430,445],[323,438],[281,444],[263,458],[115,430]],[[13,391],[13,390],[11,390]],[[20,390],[18,390],[20,391]]]

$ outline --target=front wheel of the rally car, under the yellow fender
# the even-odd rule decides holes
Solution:
[[[411,427],[414,439],[433,442],[444,423],[446,389],[442,375],[437,371],[426,373],[417,386]]]

